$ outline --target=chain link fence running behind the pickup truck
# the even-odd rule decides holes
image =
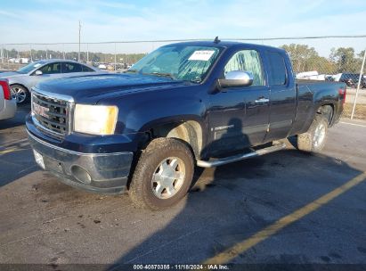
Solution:
[[[100,69],[122,71],[146,53],[175,42],[213,40],[151,40],[100,43],[0,45],[0,70],[18,70],[37,60],[59,58],[88,62]],[[366,36],[222,38],[285,49],[299,79],[342,81],[347,85],[345,117],[366,119],[364,57]],[[80,59],[78,59],[80,46]]]

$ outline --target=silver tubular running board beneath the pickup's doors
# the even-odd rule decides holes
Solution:
[[[281,151],[284,148],[286,148],[286,144],[281,143],[281,144],[275,144],[275,145],[272,145],[271,147],[260,149],[260,150],[254,151],[254,152],[237,154],[237,155],[233,155],[233,156],[229,156],[229,157],[225,157],[225,158],[221,158],[221,159],[197,160],[197,166],[199,166],[201,168],[215,168],[215,167],[229,164],[232,162],[236,162],[239,160],[244,160],[244,159],[248,159],[248,158],[252,158],[252,157],[256,157],[256,156],[261,156],[261,155],[271,153],[271,152]]]

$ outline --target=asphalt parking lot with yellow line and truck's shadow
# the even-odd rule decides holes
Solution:
[[[0,123],[0,263],[366,265],[365,121],[331,128],[323,154],[289,146],[198,171],[180,204],[151,212],[39,170],[27,112]]]

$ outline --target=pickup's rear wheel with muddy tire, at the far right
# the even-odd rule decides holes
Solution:
[[[303,152],[321,152],[327,141],[329,122],[316,114],[306,133],[297,136],[297,149]]]

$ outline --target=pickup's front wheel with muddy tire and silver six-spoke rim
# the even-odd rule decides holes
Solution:
[[[190,189],[193,172],[194,157],[187,144],[175,138],[154,139],[137,161],[130,198],[139,208],[173,206]]]

